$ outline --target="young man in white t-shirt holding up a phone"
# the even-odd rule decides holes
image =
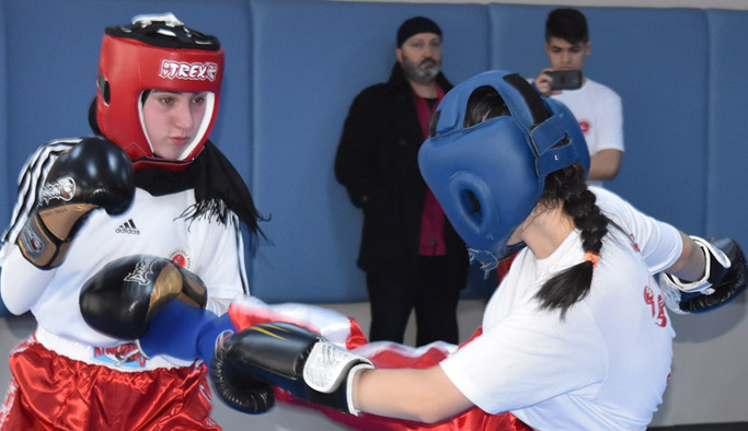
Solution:
[[[565,104],[579,121],[590,155],[588,183],[601,185],[613,179],[623,159],[621,97],[583,75],[592,49],[585,15],[575,9],[551,11],[544,45],[551,67],[536,77],[536,89]]]

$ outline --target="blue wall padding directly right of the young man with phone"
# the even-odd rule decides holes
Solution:
[[[703,12],[584,11],[596,23],[597,37],[585,69],[623,100],[626,151],[609,187],[647,213],[703,235],[709,91]]]

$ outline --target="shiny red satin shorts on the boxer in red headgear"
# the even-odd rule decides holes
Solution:
[[[10,357],[2,430],[220,430],[207,370],[123,372],[48,350],[34,336]]]

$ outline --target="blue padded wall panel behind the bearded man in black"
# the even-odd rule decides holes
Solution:
[[[252,2],[253,193],[272,215],[274,244],[261,246],[254,263],[252,292],[261,299],[366,301],[356,267],[361,213],[335,180],[333,161],[350,103],[387,81],[398,27],[419,14],[442,28],[450,80],[488,67],[483,7]]]

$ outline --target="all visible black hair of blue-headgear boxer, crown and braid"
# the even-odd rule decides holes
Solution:
[[[468,100],[464,126],[470,127],[498,115],[509,115],[506,103],[496,90],[482,86]],[[566,140],[562,140],[556,145],[565,143]],[[596,196],[587,188],[585,180],[584,167],[578,162],[548,174],[537,206],[551,209],[562,205],[563,211],[572,217],[574,225],[582,232],[583,249],[599,256],[608,224],[612,222],[595,203]],[[566,311],[589,293],[595,266],[595,263],[585,260],[548,280],[536,294],[540,308],[560,310],[563,319]]]

